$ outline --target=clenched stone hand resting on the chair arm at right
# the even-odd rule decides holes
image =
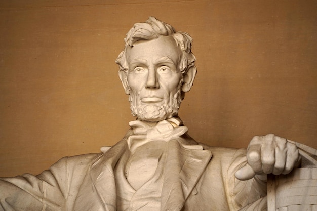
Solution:
[[[299,165],[300,155],[295,144],[274,134],[267,134],[253,137],[248,146],[247,160],[248,163],[235,173],[239,180],[270,173],[288,174]]]

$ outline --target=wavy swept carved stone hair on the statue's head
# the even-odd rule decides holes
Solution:
[[[172,36],[177,45],[180,46],[183,55],[178,64],[178,69],[184,74],[187,69],[194,66],[196,60],[193,53],[191,53],[192,38],[185,32],[176,32],[175,29],[154,17],[149,17],[144,23],[136,23],[127,33],[125,40],[125,49],[119,54],[116,63],[120,70],[128,71],[128,63],[126,60],[126,50],[128,46],[133,46],[138,40],[152,40],[159,36]]]

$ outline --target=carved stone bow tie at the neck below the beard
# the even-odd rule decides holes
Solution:
[[[182,121],[179,118],[170,118],[149,125],[141,120],[130,121],[133,135],[129,136],[127,142],[130,151],[133,153],[136,148],[150,141],[170,141],[178,138],[188,131],[186,126],[180,126]]]

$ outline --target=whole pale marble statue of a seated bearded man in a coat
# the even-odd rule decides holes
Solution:
[[[119,76],[135,121],[102,153],[0,179],[0,210],[266,210],[266,175],[300,165],[296,143],[268,134],[248,149],[210,147],[187,134],[179,106],[196,74],[192,38],[149,17],[125,38]]]

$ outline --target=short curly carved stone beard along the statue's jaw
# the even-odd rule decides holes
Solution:
[[[169,99],[169,102],[167,104],[163,104],[160,106],[154,104],[137,105],[138,103],[136,102],[136,100],[133,99],[132,95],[130,94],[129,101],[132,115],[138,117],[138,119],[140,120],[151,122],[162,121],[177,115],[178,109],[182,102],[181,82],[179,83],[177,92],[174,94],[173,98]]]

